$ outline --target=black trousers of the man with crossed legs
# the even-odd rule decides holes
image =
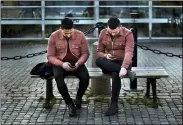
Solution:
[[[112,74],[112,102],[117,102],[119,93],[121,90],[121,78],[119,72],[122,65],[121,60],[108,60],[106,58],[98,57],[96,59],[96,65],[101,68],[104,74]],[[131,65],[127,70],[131,70]]]

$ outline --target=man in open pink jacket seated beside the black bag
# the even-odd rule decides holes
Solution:
[[[73,28],[73,21],[64,18],[61,28],[53,32],[48,40],[47,59],[53,65],[57,88],[69,108],[69,115],[75,116],[81,108],[82,96],[89,84],[89,73],[84,65],[89,57],[86,38],[81,31]],[[76,104],[73,103],[64,82],[67,75],[75,75],[79,80]]]

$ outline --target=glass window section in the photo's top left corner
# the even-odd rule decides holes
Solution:
[[[1,1],[1,5],[3,19],[41,19],[40,1]]]

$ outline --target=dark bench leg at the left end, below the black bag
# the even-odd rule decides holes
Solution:
[[[52,108],[55,103],[55,97],[53,95],[53,79],[46,79],[46,102],[44,108]]]

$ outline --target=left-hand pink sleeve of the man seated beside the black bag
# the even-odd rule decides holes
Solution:
[[[53,65],[62,66],[63,62],[56,58],[56,44],[55,44],[55,37],[52,34],[48,40],[47,45],[47,59]]]

